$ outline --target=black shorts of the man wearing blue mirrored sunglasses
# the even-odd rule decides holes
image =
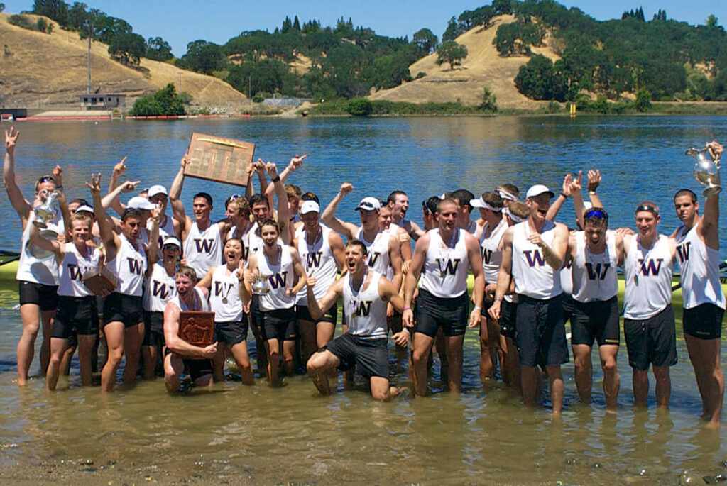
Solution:
[[[621,342],[619,330],[619,299],[616,296],[606,301],[588,303],[575,302],[571,317],[571,344],[587,344],[593,347]]]

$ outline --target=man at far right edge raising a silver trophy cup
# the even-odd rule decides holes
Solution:
[[[722,145],[712,142],[710,148],[719,163]],[[719,195],[707,196],[703,216],[699,215],[696,195],[688,189],[675,194],[674,207],[682,222],[672,236],[681,269],[684,341],[702,396],[702,416],[716,428],[720,426],[724,395],[720,347],[725,296],[719,269]]]

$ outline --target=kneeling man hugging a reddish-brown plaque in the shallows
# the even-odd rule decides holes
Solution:
[[[182,340],[180,314],[182,311],[208,311],[206,288],[196,287],[197,272],[191,267],[180,267],[175,275],[177,295],[164,309],[164,384],[169,392],[179,392],[185,368],[196,386],[212,386],[212,357],[217,354],[217,343],[198,347]],[[196,359],[190,359],[196,358]]]

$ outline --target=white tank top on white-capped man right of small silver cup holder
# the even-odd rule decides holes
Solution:
[[[336,281],[338,272],[329,240],[331,230],[321,227],[321,231],[316,235],[313,245],[308,244],[305,235],[306,232],[303,231],[297,237],[298,254],[300,254],[300,261],[305,269],[305,275],[309,275],[310,270],[313,270],[313,278],[316,278],[316,285],[313,286],[313,296],[316,296],[316,300],[319,300],[326,295],[329,287]],[[308,305],[308,292],[305,287],[298,292],[296,299],[297,304]]]

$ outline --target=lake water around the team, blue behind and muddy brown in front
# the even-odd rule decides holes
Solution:
[[[598,168],[599,195],[612,226],[632,226],[644,199],[662,207],[662,232],[678,224],[673,193],[692,176],[687,147],[727,139],[727,117],[497,117],[306,118],[174,122],[17,123],[17,177],[31,195],[39,174],[64,169],[70,197],[88,197],[89,174],[108,175],[128,157],[129,179],[169,187],[193,131],[244,139],[256,155],[280,166],[308,154],[291,182],[327,203],[341,182],[353,182],[338,215],[356,221],[366,195],[409,194],[409,217],[421,222],[421,201],[466,187],[478,195],[502,182],[525,192],[540,182],[560,192],[567,171]],[[1,128],[8,128],[3,123]],[[723,140],[724,141],[724,140]],[[585,184],[585,182],[584,182]],[[188,179],[182,197],[207,190],[222,217],[222,201],[238,190]],[[701,196],[700,196],[701,198]],[[0,248],[16,250],[17,216],[3,197]],[[189,201],[190,202],[190,201]],[[725,215],[720,224],[727,227]],[[571,203],[558,218],[574,219]],[[724,246],[724,245],[723,245]],[[723,249],[723,257],[727,256]],[[579,405],[572,363],[564,367],[566,410],[553,421],[544,408],[522,410],[499,384],[480,384],[475,331],[465,341],[465,391],[411,394],[373,402],[363,389],[318,397],[304,376],[282,389],[258,379],[232,381],[212,394],[169,396],[161,381],[141,383],[102,399],[81,389],[77,363],[71,387],[44,392],[36,378],[19,390],[15,345],[22,325],[5,291],[0,309],[0,465],[5,479],[73,482],[180,482],[223,484],[675,484],[683,469],[712,477],[727,472],[727,432],[704,430],[694,372],[678,330],[680,362],[672,368],[672,408],[631,410],[631,372],[619,353],[619,413],[604,412],[601,372],[594,357],[594,403]],[[10,301],[9,299],[12,299]],[[39,344],[39,343],[38,343]],[[251,342],[252,346],[252,342]],[[725,363],[723,351],[723,363]],[[409,385],[406,358],[391,355],[393,381]],[[31,368],[38,372],[37,359]],[[438,367],[435,365],[435,372]],[[438,382],[433,381],[438,389]],[[92,461],[92,464],[87,463]]]

